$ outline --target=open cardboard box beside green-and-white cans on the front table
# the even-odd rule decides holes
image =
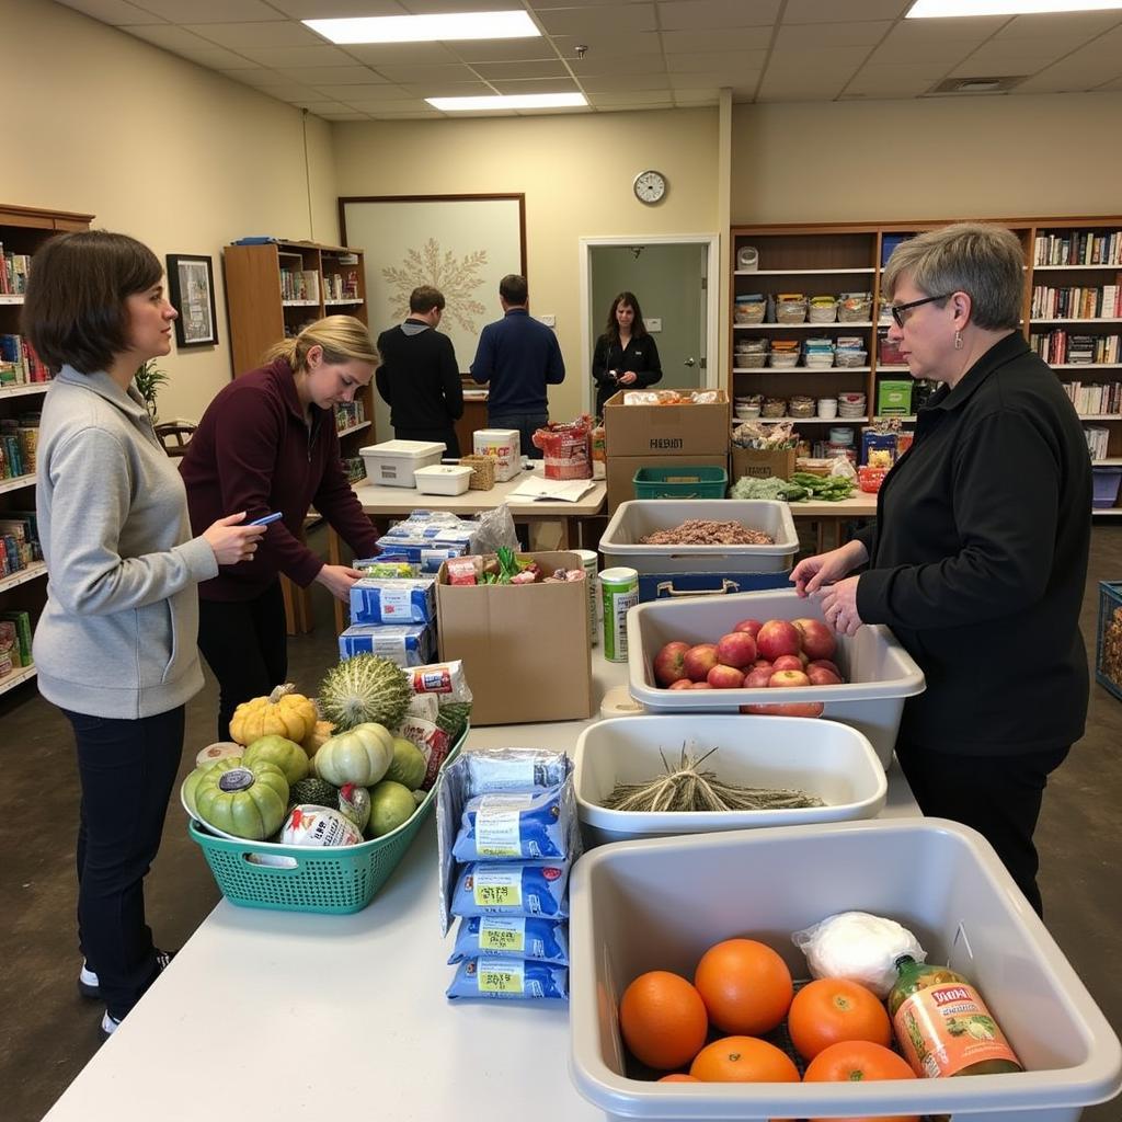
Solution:
[[[521,554],[523,557],[525,554]],[[576,553],[531,553],[548,571]],[[592,714],[588,586],[449,585],[436,578],[440,657],[462,659],[472,725],[586,719]]]

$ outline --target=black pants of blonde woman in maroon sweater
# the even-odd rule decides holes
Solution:
[[[252,600],[200,600],[199,649],[218,679],[218,738],[229,741],[233,710],[272,692],[288,673],[280,581]]]

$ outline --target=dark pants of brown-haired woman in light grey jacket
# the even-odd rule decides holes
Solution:
[[[119,1020],[159,973],[145,922],[144,879],[180,767],[184,709],[139,720],[63,712],[74,728],[82,783],[79,942]]]

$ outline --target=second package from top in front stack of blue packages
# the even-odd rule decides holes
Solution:
[[[564,861],[570,809],[563,788],[469,799],[452,856],[457,861]]]

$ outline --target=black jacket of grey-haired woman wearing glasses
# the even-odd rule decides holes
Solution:
[[[1076,412],[1020,334],[919,411],[858,535],[861,618],[888,624],[927,675],[902,741],[1013,755],[1083,735],[1091,493]]]

